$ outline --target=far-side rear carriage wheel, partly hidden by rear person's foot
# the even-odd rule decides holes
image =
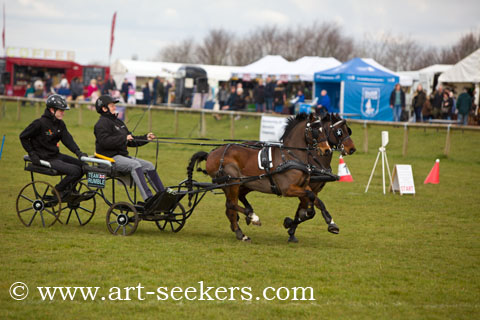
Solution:
[[[68,214],[65,224],[70,222],[70,219],[77,220],[81,226],[86,225],[92,220],[97,208],[97,202],[95,200],[96,190],[90,188],[83,181],[77,183],[75,187],[76,194],[79,197],[71,202],[68,202],[66,210]],[[64,213],[65,215],[65,213]]]

